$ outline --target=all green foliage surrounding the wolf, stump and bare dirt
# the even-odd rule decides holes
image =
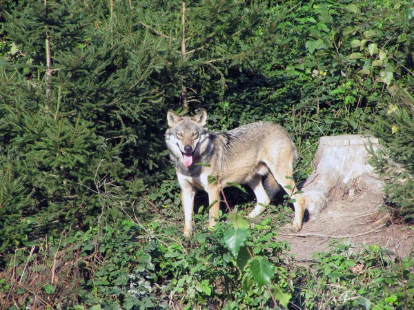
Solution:
[[[388,200],[412,219],[411,1],[185,5],[1,1],[1,309],[411,307],[411,258],[337,245],[305,271],[270,218],[206,231],[197,214],[182,237],[163,143],[178,106],[213,130],[275,121],[302,176],[319,136],[373,130]]]

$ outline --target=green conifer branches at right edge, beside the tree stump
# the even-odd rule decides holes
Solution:
[[[377,117],[373,127],[386,149],[373,154],[371,164],[386,180],[388,203],[408,221],[414,219],[414,99],[397,86],[393,94],[395,104]]]

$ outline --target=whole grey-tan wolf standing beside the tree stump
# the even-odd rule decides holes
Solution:
[[[305,201],[292,178],[298,156],[284,127],[259,121],[228,132],[210,132],[204,109],[195,116],[179,116],[169,110],[167,121],[166,145],[181,186],[184,235],[189,236],[192,231],[196,189],[204,189],[208,194],[208,226],[214,227],[219,219],[220,189],[231,183],[248,184],[253,189],[257,205],[249,218],[258,216],[270,204],[266,189],[275,192],[282,187],[295,199],[295,218],[288,228],[302,228]],[[209,176],[218,182],[209,182]],[[266,176],[264,184],[262,176]]]

